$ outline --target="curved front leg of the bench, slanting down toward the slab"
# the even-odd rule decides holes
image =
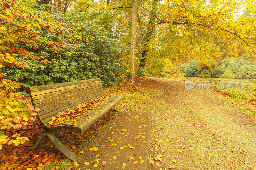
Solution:
[[[75,153],[70,151],[56,136],[55,132],[57,129],[51,130],[46,132],[46,135],[49,137],[49,139],[52,141],[52,143],[64,154],[67,158],[73,160],[74,162],[77,162],[77,159],[79,159],[78,156],[76,156]]]

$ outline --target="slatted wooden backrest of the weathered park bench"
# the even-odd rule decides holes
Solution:
[[[30,94],[32,105],[40,108],[37,112],[40,124],[49,122],[59,112],[70,109],[79,102],[105,95],[99,78],[27,87],[26,91]]]

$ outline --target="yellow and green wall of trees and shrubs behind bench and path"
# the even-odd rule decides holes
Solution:
[[[25,87],[85,78],[124,82],[136,3],[137,76],[256,76],[254,1],[4,0],[0,149],[28,140],[4,134],[34,120]]]

